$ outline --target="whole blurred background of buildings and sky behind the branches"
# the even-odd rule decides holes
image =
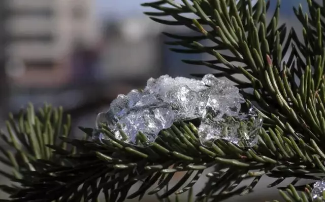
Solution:
[[[142,14],[154,11],[140,6],[145,2],[150,1],[0,0],[0,126],[28,102],[36,108],[47,102],[71,113],[73,135],[79,137],[77,126],[94,127],[96,114],[117,94],[145,86],[150,77],[213,72],[181,62],[211,56],[177,54],[164,45],[170,39],[162,31],[192,33],[151,21]],[[282,1],[280,23],[300,28],[292,9],[299,3],[307,11],[305,0]],[[275,4],[271,0],[270,15]],[[276,199],[277,191],[266,189],[270,182],[229,201]],[[201,179],[194,191],[204,183]]]

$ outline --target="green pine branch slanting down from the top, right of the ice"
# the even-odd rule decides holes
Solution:
[[[287,89],[284,88],[283,78],[280,74],[283,74],[285,69],[285,64],[282,65],[282,57],[287,53],[291,44],[291,38],[295,37],[296,33],[291,29],[285,41],[285,25],[283,24],[277,28],[280,3],[277,3],[271,23],[267,24],[266,12],[270,5],[269,1],[267,3],[265,1],[257,1],[253,7],[250,5],[250,1],[239,1],[237,5],[235,1],[192,2],[189,3],[184,0],[183,5],[174,5],[173,12],[170,12],[169,7],[163,7],[164,4],[173,6],[170,1],[166,1],[164,4],[163,2],[158,2],[156,4],[144,4],[143,6],[150,6],[163,11],[165,15],[170,15],[177,20],[177,23],[174,23],[174,25],[185,25],[201,33],[201,35],[194,37],[167,34],[178,40],[168,44],[187,48],[172,49],[173,51],[208,53],[216,57],[214,61],[185,60],[185,63],[206,65],[219,70],[221,72],[216,73],[215,76],[226,77],[232,80],[242,90],[253,88],[253,93],[245,93],[249,99],[261,106],[261,111],[268,117],[266,123],[274,123],[274,121],[268,123],[268,120],[274,119],[270,113],[270,107],[275,109],[272,110],[274,115],[278,116],[277,118],[281,121],[284,121],[286,117],[283,114],[287,113],[287,109],[279,110],[281,109],[280,105],[286,107],[286,105],[291,105],[292,101],[286,94]],[[230,11],[228,11],[228,8]],[[177,14],[175,14],[175,10],[178,11]],[[180,16],[188,10],[196,14],[197,18],[189,19]],[[152,13],[149,13],[149,15],[152,15]],[[173,24],[167,20],[152,19],[163,24]],[[207,30],[208,28],[209,30]],[[203,46],[199,43],[203,38],[209,39],[216,46]],[[281,46],[284,46],[284,48],[282,49]],[[219,53],[222,50],[229,50],[231,53]],[[296,58],[296,55],[295,52],[291,52],[290,60]],[[304,67],[300,65],[298,69],[300,68]],[[294,70],[295,68],[291,69]],[[237,73],[246,76],[249,82],[247,83],[243,79],[235,77],[234,74]],[[193,75],[202,76],[199,74]],[[291,88],[289,85],[296,85],[294,73],[288,75],[286,79],[288,82],[287,88]],[[280,99],[282,100],[282,97],[284,97],[287,103],[268,102],[269,100],[277,100],[276,95],[278,94],[284,94],[280,96]]]

